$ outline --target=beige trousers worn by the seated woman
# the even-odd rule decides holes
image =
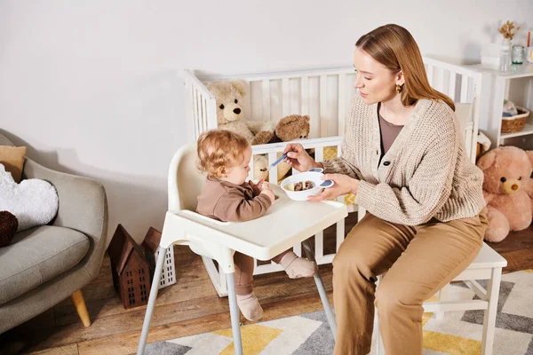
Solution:
[[[422,354],[422,304],[472,263],[486,228],[485,209],[416,226],[363,217],[333,259],[335,354],[370,352],[374,305],[386,355]]]

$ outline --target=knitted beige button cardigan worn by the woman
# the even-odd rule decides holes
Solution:
[[[473,217],[485,206],[483,173],[465,152],[456,114],[441,101],[421,99],[381,156],[378,104],[352,99],[341,156],[326,173],[361,180],[355,202],[392,223],[419,225]]]

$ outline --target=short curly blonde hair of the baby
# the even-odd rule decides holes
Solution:
[[[249,146],[246,138],[231,130],[203,132],[196,144],[198,169],[211,177],[222,177],[222,168],[242,162]]]

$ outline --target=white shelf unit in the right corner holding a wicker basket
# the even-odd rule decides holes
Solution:
[[[533,64],[513,65],[507,72],[467,66],[482,73],[480,130],[489,137],[492,148],[520,146],[533,149],[533,115],[529,114],[526,127],[514,133],[501,133],[504,99],[517,106],[533,109]]]

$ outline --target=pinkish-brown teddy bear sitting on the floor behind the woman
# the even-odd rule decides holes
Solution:
[[[510,231],[528,228],[533,215],[533,151],[499,146],[481,155],[476,165],[484,175],[489,218],[485,240],[503,241]]]

